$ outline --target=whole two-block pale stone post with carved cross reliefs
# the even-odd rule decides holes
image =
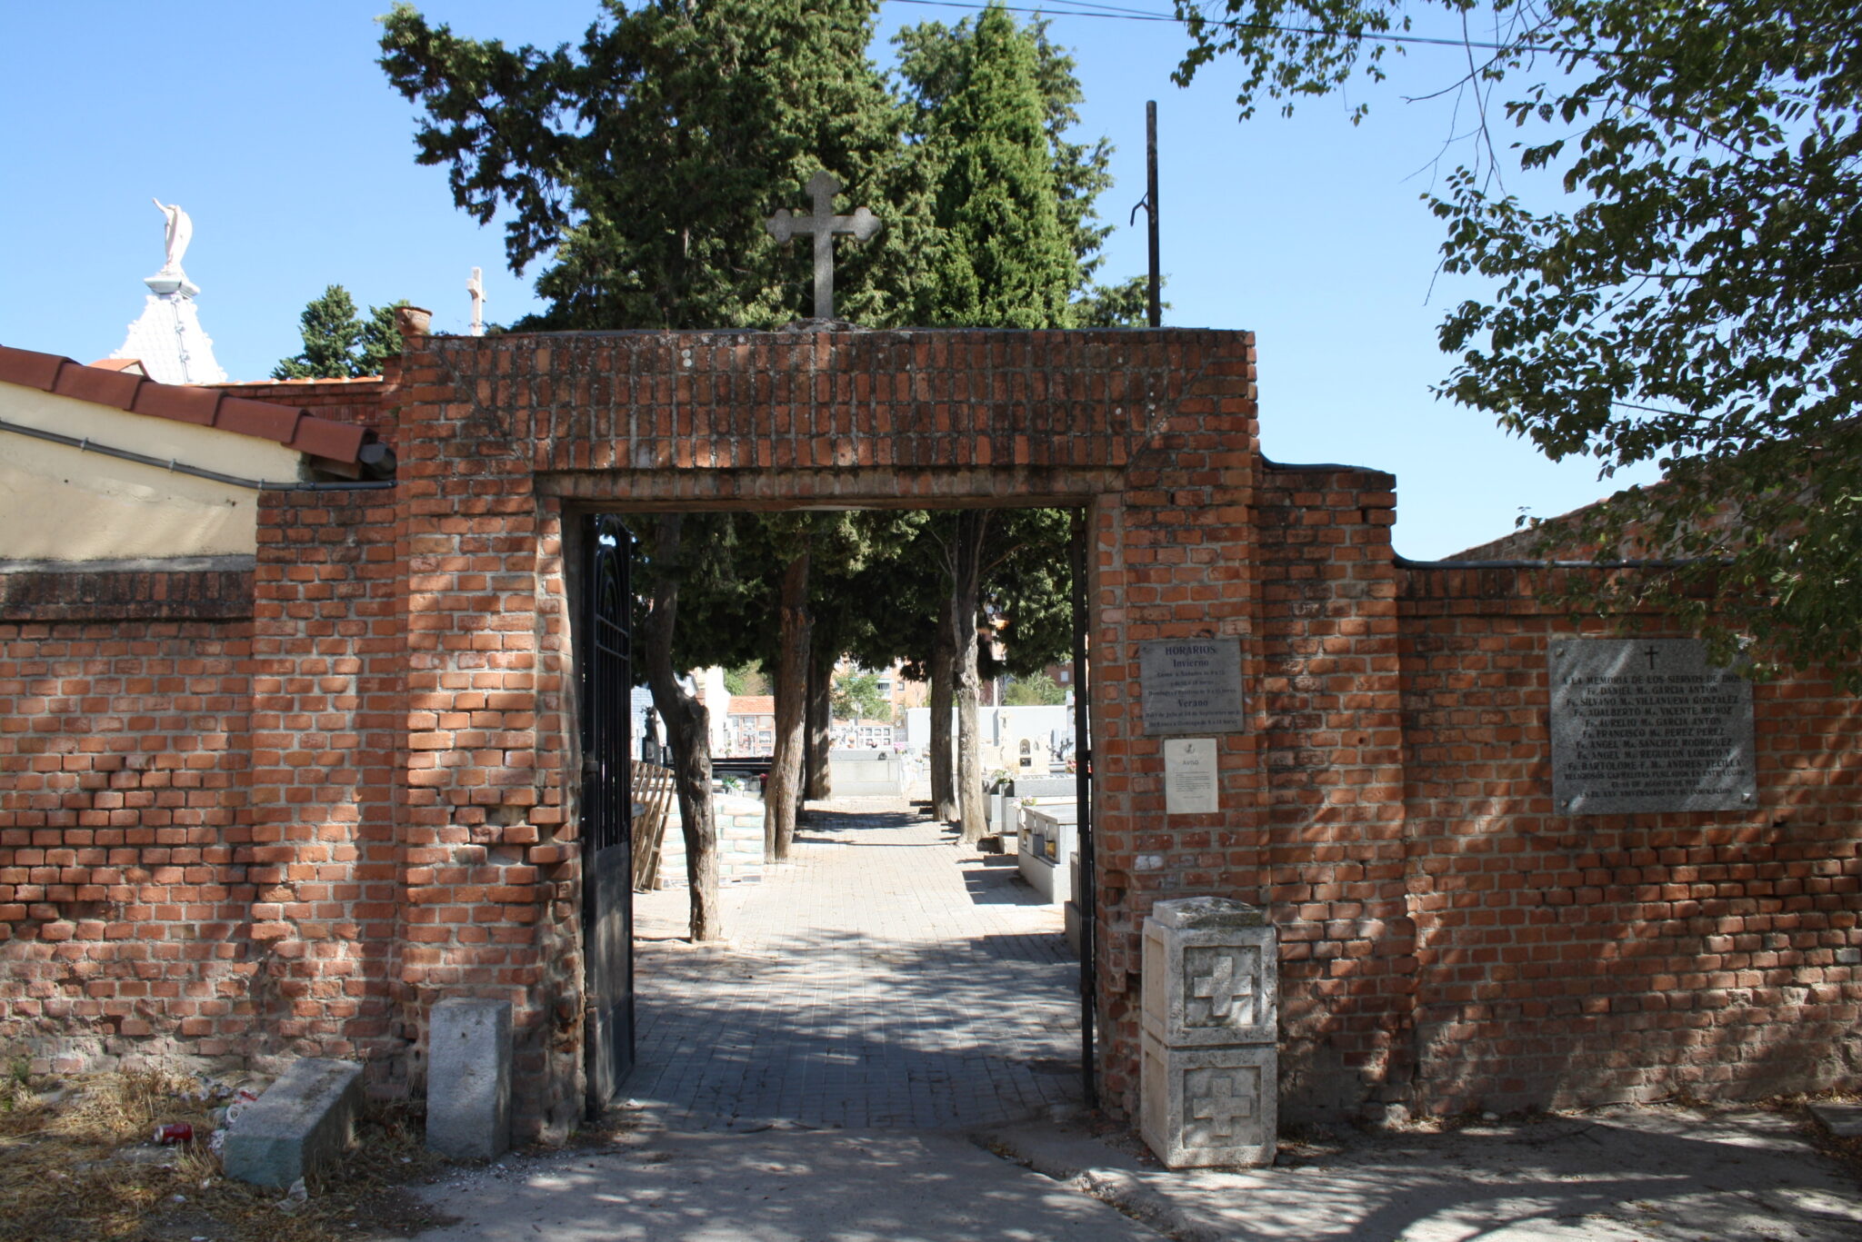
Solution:
[[[1138,1130],[1173,1168],[1274,1164],[1279,938],[1227,898],[1145,920]]]

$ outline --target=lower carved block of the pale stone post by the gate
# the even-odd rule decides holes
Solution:
[[[1169,1048],[1140,1033],[1138,1130],[1167,1168],[1274,1164],[1279,1052]]]

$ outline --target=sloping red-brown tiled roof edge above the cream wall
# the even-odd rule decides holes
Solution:
[[[274,439],[287,449],[333,462],[358,462],[363,445],[376,438],[367,428],[318,419],[307,410],[227,397],[209,387],[156,384],[127,371],[84,367],[58,354],[35,354],[4,344],[0,344],[0,384],[35,387],[41,393],[58,393],[155,419]]]

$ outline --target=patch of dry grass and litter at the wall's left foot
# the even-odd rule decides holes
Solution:
[[[439,1223],[398,1186],[439,1162],[406,1106],[371,1106],[358,1145],[309,1186],[285,1194],[229,1181],[207,1147],[201,1084],[166,1071],[0,1078],[0,1242],[331,1242],[410,1236]],[[155,1147],[156,1125],[194,1125],[194,1147]]]

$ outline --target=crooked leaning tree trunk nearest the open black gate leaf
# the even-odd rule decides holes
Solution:
[[[676,566],[680,559],[680,514],[655,521],[654,562]],[[691,888],[691,938],[717,940],[724,924],[717,903],[717,823],[711,816],[711,713],[693,695],[680,689],[672,668],[672,628],[678,624],[680,577],[665,574],[654,587],[654,607],[646,614],[646,683],[654,691],[654,709],[667,722],[672,747],[672,784],[680,797],[680,825],[685,832],[685,879]]]

